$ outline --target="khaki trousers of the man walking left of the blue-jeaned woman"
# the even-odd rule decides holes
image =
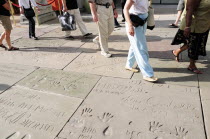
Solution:
[[[105,6],[97,5],[97,14],[101,51],[108,52],[108,38],[114,30],[114,15],[112,6],[106,8]]]

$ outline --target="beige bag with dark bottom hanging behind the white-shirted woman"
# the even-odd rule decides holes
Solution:
[[[154,28],[155,28],[154,9],[152,7],[152,0],[150,0],[150,6],[148,8],[147,29],[153,30]]]

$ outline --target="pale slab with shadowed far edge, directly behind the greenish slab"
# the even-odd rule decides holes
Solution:
[[[43,45],[41,42],[40,44]],[[68,47],[29,46],[19,51],[0,51],[0,62],[62,69],[80,53],[75,48]]]

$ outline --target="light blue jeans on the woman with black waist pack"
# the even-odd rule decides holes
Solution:
[[[138,16],[142,19],[146,19],[148,13],[140,14]],[[145,36],[146,29],[147,23],[143,26],[134,27],[134,36],[131,36],[128,32],[128,25],[126,24],[126,32],[131,45],[128,52],[126,67],[131,68],[136,61],[143,77],[152,77],[154,76],[154,72],[149,64],[149,54]]]

